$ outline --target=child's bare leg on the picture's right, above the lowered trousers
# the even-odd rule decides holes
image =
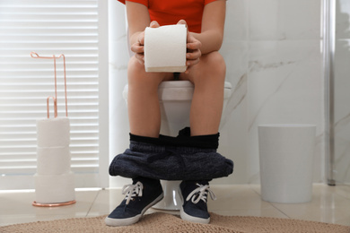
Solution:
[[[217,134],[223,111],[223,86],[226,65],[218,52],[200,57],[197,65],[180,79],[195,84],[190,112],[191,135]]]

